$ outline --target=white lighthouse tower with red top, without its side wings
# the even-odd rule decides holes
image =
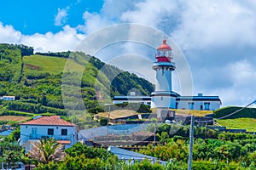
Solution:
[[[177,94],[172,92],[172,71],[175,70],[175,63],[172,62],[172,48],[166,40],[157,48],[155,59],[156,82],[155,91],[151,94],[151,108],[174,109]]]

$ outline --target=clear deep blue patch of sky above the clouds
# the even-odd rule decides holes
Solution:
[[[102,0],[10,0],[3,1],[0,6],[0,21],[3,25],[14,26],[22,34],[46,33],[61,31],[62,26],[78,26],[84,24],[84,11],[98,12],[102,8]],[[60,24],[56,25],[55,17],[60,10],[67,14]]]

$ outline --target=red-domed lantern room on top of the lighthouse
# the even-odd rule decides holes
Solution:
[[[155,59],[157,62],[171,62],[172,48],[166,43],[166,40],[157,48]]]

